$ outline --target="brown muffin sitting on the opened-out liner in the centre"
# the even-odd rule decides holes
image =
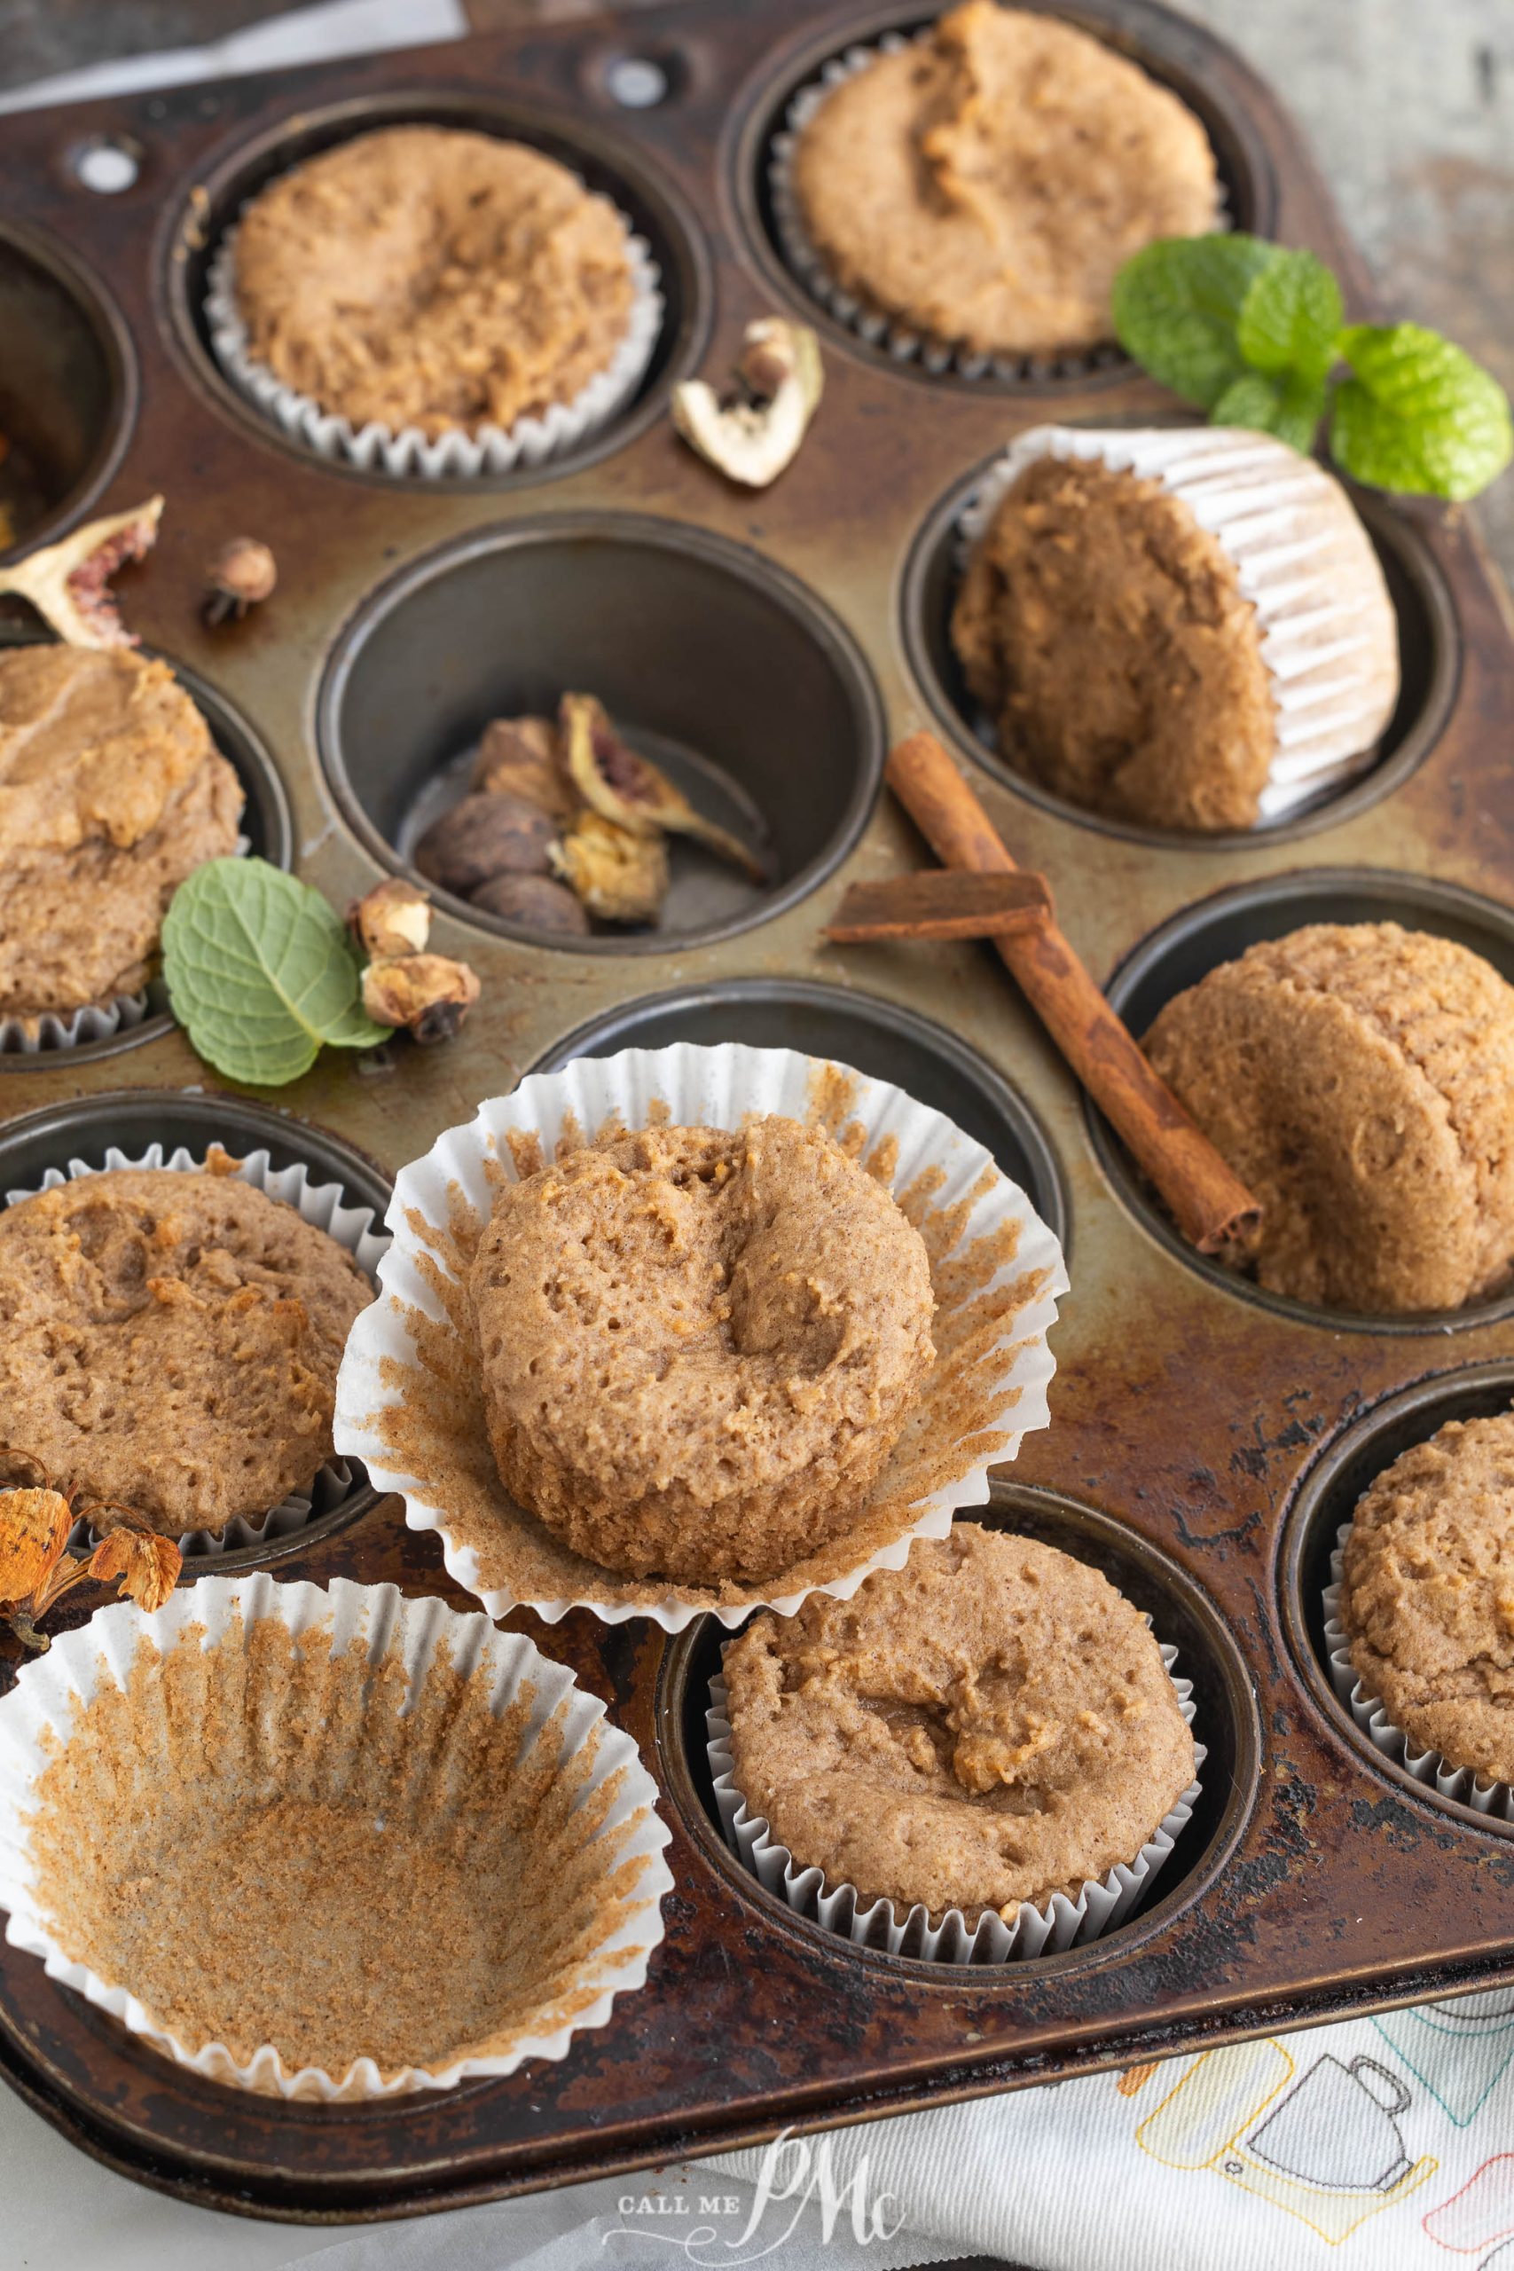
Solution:
[[[924,1240],[776,1115],[506,1185],[470,1294],[504,1488],[631,1576],[767,1578],[840,1535],[935,1356]]]

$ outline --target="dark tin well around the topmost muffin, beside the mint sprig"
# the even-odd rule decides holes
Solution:
[[[1221,75],[1212,68],[1223,50],[1198,25],[1178,23],[1164,9],[1146,7],[1144,0],[1110,0],[1103,7],[1042,7],[1040,0],[1033,0],[1033,7],[1037,14],[1058,16],[1074,30],[1101,39],[1187,102],[1210,136],[1230,227],[1251,229],[1258,236],[1271,234],[1278,193],[1267,148],[1244,104],[1228,98]],[[863,11],[847,23],[844,36],[831,27],[819,39],[808,39],[797,52],[785,50],[781,64],[747,89],[738,104],[742,125],[733,152],[731,193],[754,259],[806,322],[817,325],[853,354],[906,377],[933,386],[1049,395],[1119,384],[1130,375],[1130,363],[1112,341],[1058,357],[994,359],[987,368],[974,370],[972,377],[956,363],[940,368],[942,357],[899,352],[892,334],[908,332],[908,325],[892,325],[874,316],[863,322],[842,322],[790,263],[774,213],[772,173],[774,143],[785,132],[794,100],[808,86],[822,84],[822,73],[833,59],[858,48],[876,48],[883,39],[915,39],[933,20],[935,14],[924,11],[917,0],[906,0],[906,5],[894,0],[892,7]]]

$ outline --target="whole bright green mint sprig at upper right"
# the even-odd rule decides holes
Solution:
[[[1335,275],[1312,252],[1258,236],[1167,236],[1115,277],[1126,354],[1212,425],[1260,427],[1330,450],[1353,481],[1475,497],[1514,454],[1498,382],[1414,322],[1348,325]],[[1335,379],[1337,363],[1351,377]]]

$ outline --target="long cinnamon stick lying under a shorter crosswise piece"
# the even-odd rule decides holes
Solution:
[[[933,734],[910,734],[888,761],[888,783],[944,868],[1012,874],[994,824]],[[1262,1220],[1258,1201],[1155,1076],[1055,922],[996,938],[1006,967],[1124,1136],[1201,1254],[1217,1254]]]

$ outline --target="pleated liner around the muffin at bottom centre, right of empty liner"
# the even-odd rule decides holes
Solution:
[[[1192,1726],[1194,1685],[1174,1674],[1176,1660],[1178,1651],[1162,1646],[1162,1662],[1178,1694],[1178,1708]],[[885,1949],[890,1955],[915,1955],[933,1964],[1012,1964],[1033,1955],[1062,1955],[1067,1949],[1080,1949],[1124,1924],[1192,1821],[1203,1790],[1194,1776],[1139,1853],[1128,1864],[1117,1862],[1108,1876],[1080,1885],[1076,1901],[1069,1901],[1065,1892],[1053,1892],[1044,1908],[1021,1901],[1012,1924],[1006,1924],[990,1908],[976,1926],[967,1924],[960,1908],[949,1908],[940,1924],[931,1924],[931,1912],[922,1905],[899,1917],[888,1899],[863,1905],[856,1885],[831,1885],[824,1869],[817,1867],[797,1869],[790,1849],[779,1844],[763,1815],[747,1812],[747,1801],[735,1787],[729,1690],[722,1674],[710,1681],[710,1706],[704,1717],[720,1826],[731,1851],[763,1889],[781,1894],[797,1917],[824,1924],[829,1933],[840,1933],[858,1949]],[[1205,1755],[1203,1744],[1194,1744],[1196,1769],[1203,1767]]]

